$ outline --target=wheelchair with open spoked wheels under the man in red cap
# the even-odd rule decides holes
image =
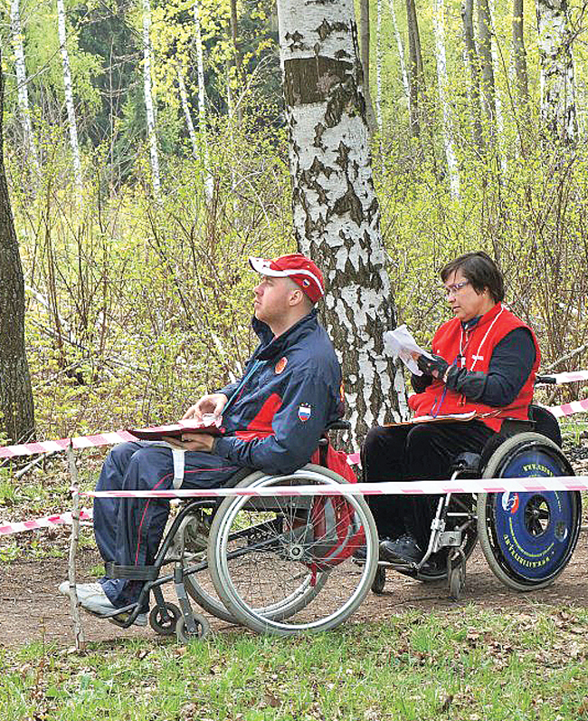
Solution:
[[[331,426],[329,429],[333,429]],[[346,428],[339,423],[335,428]],[[327,438],[320,445],[327,444]],[[107,564],[111,578],[143,581],[137,604],[109,620],[128,628],[153,594],[151,628],[178,641],[202,638],[209,622],[191,601],[228,623],[280,636],[335,628],[365,599],[377,571],[372,514],[360,495],[294,495],[299,485],[345,484],[324,466],[285,476],[242,469],[224,487],[288,485],[293,495],[198,498],[168,524],[152,566]],[[361,552],[365,562],[358,564]],[[165,566],[172,572],[164,572]],[[173,582],[178,604],[163,597]],[[120,614],[126,615],[120,620]]]

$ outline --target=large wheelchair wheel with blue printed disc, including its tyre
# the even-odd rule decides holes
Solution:
[[[559,447],[537,433],[507,438],[488,461],[485,478],[573,476]],[[582,522],[577,491],[478,495],[479,543],[498,579],[516,591],[548,586],[574,553]]]

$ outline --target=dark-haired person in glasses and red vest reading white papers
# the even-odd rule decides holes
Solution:
[[[418,357],[422,375],[413,375],[409,405],[417,417],[477,415],[468,422],[372,428],[362,449],[365,481],[449,478],[458,454],[480,453],[505,419],[528,419],[540,353],[534,332],[502,303],[504,281],[497,264],[482,252],[460,255],[442,268],[441,282],[453,317],[435,333],[432,359]],[[380,559],[419,562],[436,499],[370,496],[369,505]]]

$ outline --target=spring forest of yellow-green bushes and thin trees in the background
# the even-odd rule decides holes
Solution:
[[[356,5],[396,322],[425,345],[439,268],[482,248],[544,370],[583,366],[585,11]],[[0,43],[37,437],[177,418],[254,346],[246,257],[296,249],[275,5],[5,0]]]

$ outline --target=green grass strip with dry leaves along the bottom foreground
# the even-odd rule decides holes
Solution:
[[[588,611],[407,611],[293,639],[243,630],[0,652],[0,719],[588,718]]]

